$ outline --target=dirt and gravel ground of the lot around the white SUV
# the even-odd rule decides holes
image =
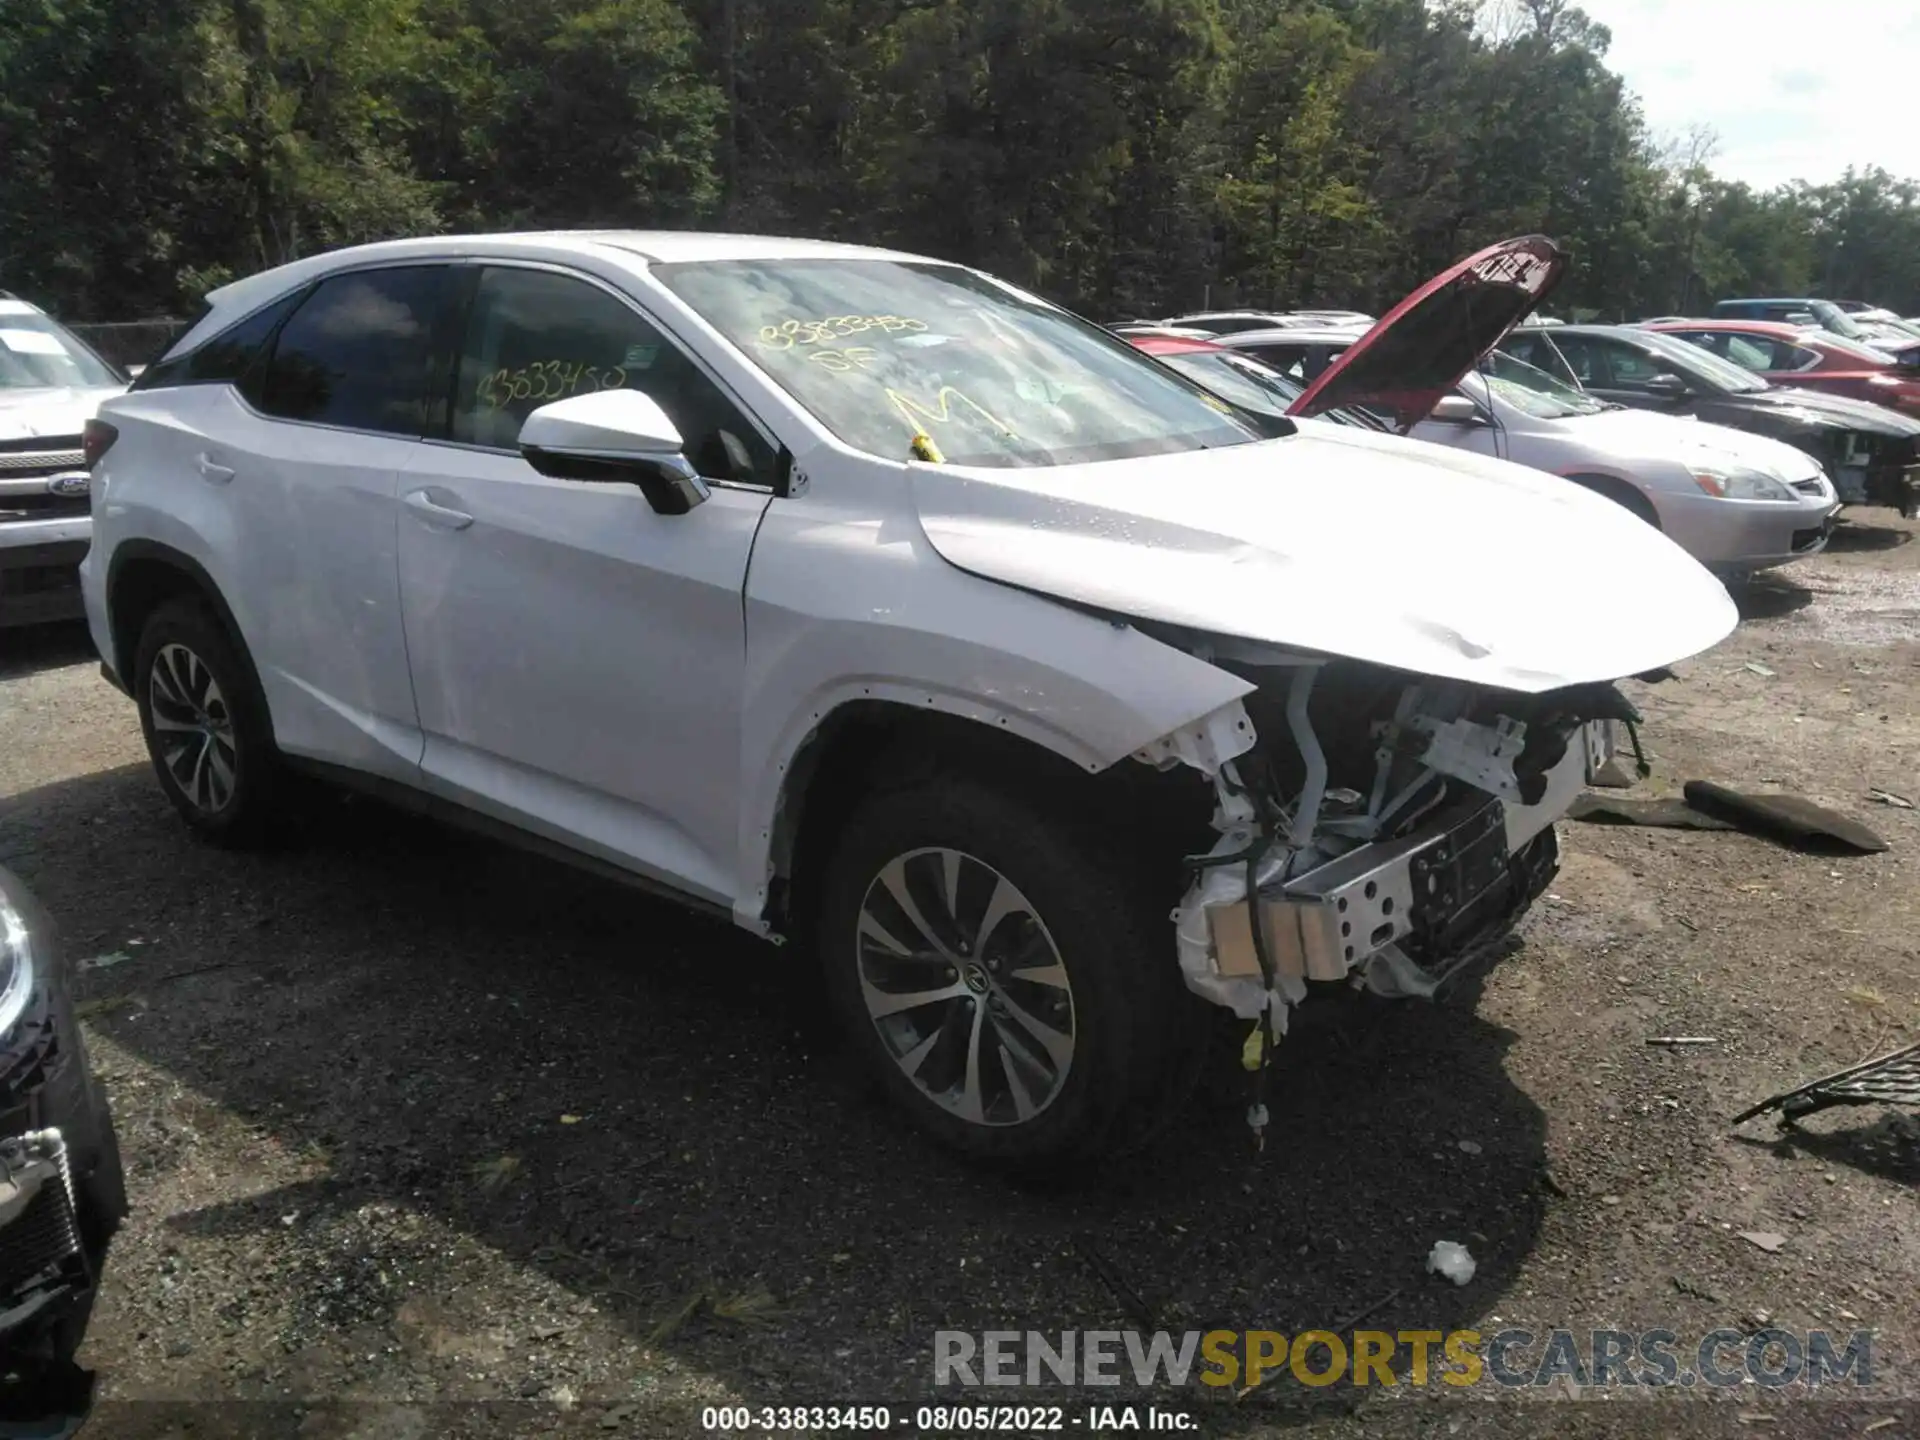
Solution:
[[[0,862],[81,966],[136,1206],[90,1432],[682,1436],[714,1404],[977,1400],[931,1388],[943,1327],[1363,1315],[1870,1327],[1874,1386],[1158,1400],[1213,1434],[1920,1436],[1914,1127],[1726,1125],[1920,1037],[1920,810],[1868,799],[1920,801],[1916,530],[1859,513],[1636,689],[1644,791],[1778,785],[1889,852],[1563,824],[1484,981],[1296,1016],[1263,1156],[1229,1058],[1185,1133],[1071,1194],[902,1131],[804,962],[724,925],[369,804],[271,856],[196,845],[84,634],[4,636]],[[1423,1271],[1440,1238],[1463,1288]]]

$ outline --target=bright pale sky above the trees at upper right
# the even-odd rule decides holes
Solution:
[[[1920,0],[1578,0],[1657,136],[1697,125],[1728,180],[1920,179]]]

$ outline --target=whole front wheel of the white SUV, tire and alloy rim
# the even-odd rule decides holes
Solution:
[[[1125,851],[972,781],[856,808],[816,945],[868,1069],[922,1129],[1044,1167],[1123,1150],[1190,1091],[1202,1002]]]

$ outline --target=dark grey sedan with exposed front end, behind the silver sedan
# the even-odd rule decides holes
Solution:
[[[1845,503],[1905,515],[1920,497],[1920,419],[1884,405],[1770,386],[1711,349],[1640,326],[1515,330],[1503,348],[1613,405],[1784,440],[1820,461]]]

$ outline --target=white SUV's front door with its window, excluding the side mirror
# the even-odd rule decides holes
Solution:
[[[520,459],[536,407],[620,386],[680,428],[705,505],[657,515]],[[426,787],[732,904],[741,593],[774,445],[624,296],[547,269],[480,271],[449,388],[445,438],[399,484]]]

